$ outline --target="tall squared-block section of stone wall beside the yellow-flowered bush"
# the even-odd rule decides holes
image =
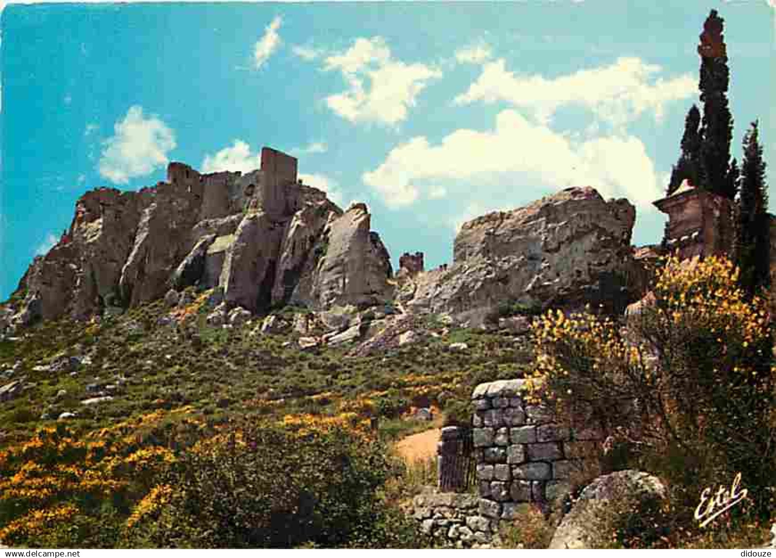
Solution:
[[[483,383],[472,394],[479,511],[486,518],[509,520],[521,503],[552,502],[584,459],[597,456],[603,438],[598,428],[553,424],[546,409],[525,403],[524,383]]]

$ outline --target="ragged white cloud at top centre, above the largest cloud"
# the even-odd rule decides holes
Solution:
[[[395,125],[405,120],[428,81],[442,77],[441,71],[425,64],[393,59],[379,36],[356,39],[345,52],[327,57],[324,69],[340,71],[348,82],[348,91],[330,95],[326,102],[334,113],[352,123]]]

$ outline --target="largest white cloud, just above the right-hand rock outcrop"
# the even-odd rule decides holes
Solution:
[[[414,137],[362,178],[394,208],[435,199],[440,188],[456,203],[485,203],[490,196],[503,206],[504,196],[518,203],[570,185],[590,185],[602,196],[627,197],[652,210],[663,190],[663,175],[638,138],[573,140],[512,109],[497,115],[493,130],[456,130],[436,145]]]

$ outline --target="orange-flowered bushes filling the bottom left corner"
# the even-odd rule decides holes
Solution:
[[[133,423],[132,428],[140,425]],[[79,436],[41,429],[0,452],[0,541],[23,546],[102,546],[175,457],[135,432]],[[66,526],[63,526],[66,525]]]

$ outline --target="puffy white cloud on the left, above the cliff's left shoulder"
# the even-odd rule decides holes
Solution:
[[[104,143],[98,169],[102,177],[114,184],[150,175],[155,168],[168,163],[167,154],[175,149],[175,133],[157,116],[146,118],[141,106],[130,107],[113,130],[113,137]]]

